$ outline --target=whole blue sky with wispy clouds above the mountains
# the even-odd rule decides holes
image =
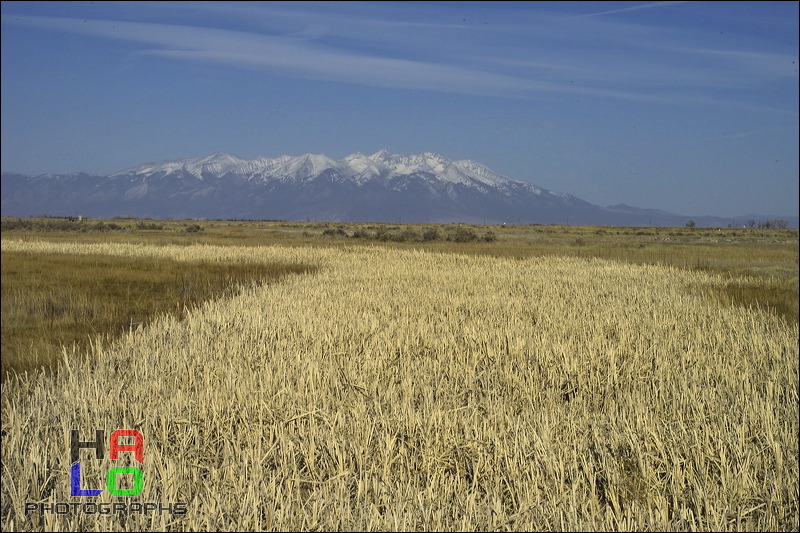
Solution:
[[[2,2],[0,53],[4,172],[385,148],[798,214],[797,2]]]

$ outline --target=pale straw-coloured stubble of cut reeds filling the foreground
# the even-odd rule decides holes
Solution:
[[[797,324],[720,306],[701,289],[735,282],[721,275],[369,247],[7,250],[319,270],[4,383],[4,530],[800,527]],[[138,429],[136,500],[187,515],[26,517],[70,501],[72,428]]]

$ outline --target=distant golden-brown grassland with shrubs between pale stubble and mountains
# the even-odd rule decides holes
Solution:
[[[401,250],[529,258],[568,256],[635,264],[661,264],[726,276],[706,287],[721,305],[760,306],[798,321],[798,230],[763,228],[643,228],[505,226],[466,224],[368,224],[282,221],[113,219],[2,220],[3,237],[23,241],[153,245],[300,246]],[[193,228],[197,231],[187,231]],[[459,231],[472,242],[453,240]],[[426,232],[438,238],[426,240]],[[415,237],[405,237],[406,235]],[[486,242],[483,237],[494,235]],[[366,235],[371,238],[353,238]],[[382,235],[383,240],[377,236]],[[450,239],[450,240],[448,240]]]

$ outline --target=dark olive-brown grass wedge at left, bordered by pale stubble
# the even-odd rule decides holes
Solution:
[[[2,376],[52,369],[63,346],[86,352],[170,313],[179,318],[241,284],[303,265],[174,261],[107,254],[3,252]]]

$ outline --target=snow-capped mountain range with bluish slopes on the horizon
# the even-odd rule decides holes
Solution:
[[[145,163],[109,176],[2,175],[3,216],[363,222],[682,225],[686,217],[603,208],[471,160],[381,150]],[[701,224],[702,221],[698,221]]]

